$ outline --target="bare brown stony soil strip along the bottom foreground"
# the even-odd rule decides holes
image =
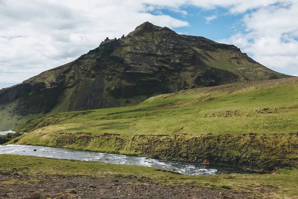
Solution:
[[[6,181],[6,182],[5,182]],[[13,184],[14,182],[15,184]],[[24,183],[20,183],[24,182]],[[6,185],[5,185],[6,184]],[[0,199],[246,199],[248,194],[146,178],[0,175]]]

